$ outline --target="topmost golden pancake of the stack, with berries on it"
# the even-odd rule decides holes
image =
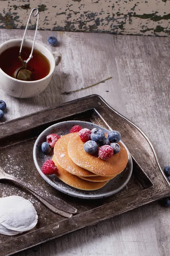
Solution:
[[[68,143],[68,154],[78,166],[96,175],[112,176],[122,172],[128,162],[128,154],[125,147],[120,142],[118,144],[120,145],[120,152],[113,154],[113,157],[108,160],[102,160],[95,155],[86,153],[83,148],[84,142],[81,141],[79,134],[73,133]]]

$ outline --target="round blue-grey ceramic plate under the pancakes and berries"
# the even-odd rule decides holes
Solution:
[[[59,190],[60,192],[63,192],[67,195],[71,195],[77,198],[85,198],[85,199],[98,199],[98,198],[105,198],[108,196],[111,196],[113,194],[116,194],[121,189],[123,189],[127,182],[130,180],[130,177],[132,175],[132,169],[133,169],[133,162],[132,157],[126,147],[126,145],[121,141],[121,143],[125,146],[127,153],[128,153],[128,163],[123,172],[121,172],[119,175],[117,175],[114,179],[110,180],[104,187],[97,190],[91,190],[91,191],[85,191],[81,189],[75,189],[56,177],[56,175],[44,175],[41,171],[43,163],[45,163],[46,160],[49,158],[52,158],[53,156],[53,150],[51,150],[50,155],[45,155],[41,151],[41,144],[45,142],[46,137],[48,134],[58,134],[58,135],[65,135],[68,134],[71,130],[71,128],[74,125],[81,125],[82,128],[89,128],[90,130],[93,128],[100,128],[105,133],[108,133],[109,131],[105,128],[102,128],[99,125],[95,125],[94,123],[90,122],[82,122],[82,121],[66,121],[66,122],[60,122],[55,125],[51,125],[47,129],[45,129],[37,138],[34,149],[33,149],[33,158],[35,166],[42,176],[42,178],[51,186],[53,186],[55,189]]]

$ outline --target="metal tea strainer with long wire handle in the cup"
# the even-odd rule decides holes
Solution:
[[[37,11],[35,15],[34,15],[34,11]],[[33,41],[32,49],[31,49],[31,54],[29,55],[29,58],[26,61],[23,61],[23,59],[21,58],[21,51],[22,51],[22,48],[23,48],[23,41],[24,41],[24,38],[25,38],[25,35],[26,35],[26,30],[27,30],[28,23],[30,21],[31,15],[33,17],[37,16],[37,26],[36,26],[36,29],[35,29],[35,35],[34,35],[34,41]],[[26,68],[27,68],[28,61],[30,61],[31,58],[33,57],[32,53],[33,53],[33,50],[34,50],[34,43],[35,43],[35,38],[36,38],[36,34],[37,34],[38,19],[39,19],[39,11],[38,11],[37,8],[34,8],[34,9],[32,9],[32,11],[29,15],[28,22],[27,22],[27,25],[26,25],[26,30],[24,32],[23,40],[22,40],[21,47],[20,47],[20,53],[19,53],[19,56],[18,56],[20,61],[23,63],[23,66],[18,67],[17,70],[14,72],[13,77],[15,79],[19,79],[19,80],[23,80],[23,81],[30,81],[31,80],[32,73],[31,73],[31,71],[27,70]]]

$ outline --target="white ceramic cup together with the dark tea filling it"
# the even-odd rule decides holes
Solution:
[[[0,45],[0,89],[17,98],[29,98],[40,94],[51,81],[55,67],[61,61],[61,53],[51,53],[47,48],[35,42],[33,58],[27,64],[31,71],[29,81],[13,77],[15,70],[22,66],[18,58],[22,39],[12,39]],[[30,55],[33,41],[24,40],[21,58]]]

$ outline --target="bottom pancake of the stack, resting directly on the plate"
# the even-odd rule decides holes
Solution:
[[[76,189],[81,190],[96,190],[101,189],[108,181],[104,182],[91,182],[87,180],[80,179],[76,175],[72,175],[70,172],[65,171],[58,163],[56,158],[53,156],[52,160],[58,168],[56,176],[62,180],[64,183],[72,186]]]

